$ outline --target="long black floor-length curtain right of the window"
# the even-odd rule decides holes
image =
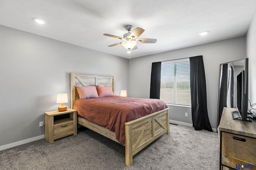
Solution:
[[[207,111],[203,56],[190,57],[189,60],[193,127],[195,130],[205,129],[212,132]]]

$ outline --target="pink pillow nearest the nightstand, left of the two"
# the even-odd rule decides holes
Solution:
[[[79,99],[98,98],[96,86],[76,86]]]

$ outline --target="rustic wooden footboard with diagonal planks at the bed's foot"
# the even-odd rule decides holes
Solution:
[[[125,123],[125,162],[132,164],[132,156],[162,134],[170,133],[169,108]]]

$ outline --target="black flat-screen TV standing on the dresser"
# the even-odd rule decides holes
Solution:
[[[247,78],[245,71],[242,70],[237,76],[237,94],[236,94],[236,108],[241,115],[242,121],[250,121],[247,115],[248,109],[248,93],[247,93]]]

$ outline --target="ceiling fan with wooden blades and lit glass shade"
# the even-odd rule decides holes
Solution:
[[[126,48],[130,51],[130,49],[132,49],[132,50],[138,49],[137,43],[156,43],[156,39],[138,38],[145,31],[144,29],[142,29],[140,27],[136,27],[134,29],[134,31],[132,31],[132,28],[133,28],[132,25],[125,26],[125,29],[128,31],[128,33],[125,33],[123,38],[118,37],[116,35],[103,34],[103,35],[106,35],[109,37],[118,38],[118,39],[123,40],[123,42],[108,45],[108,47],[113,47],[113,46],[122,44],[124,46],[124,48]],[[130,32],[130,31],[132,31],[132,32]]]

